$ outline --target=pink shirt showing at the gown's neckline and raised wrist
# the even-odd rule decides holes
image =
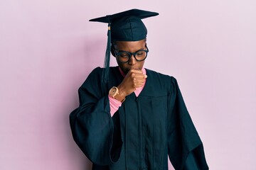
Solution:
[[[120,67],[119,67],[119,71],[121,72],[122,76],[125,77],[125,74],[124,74],[124,72],[122,72],[122,69],[120,69]],[[143,74],[146,75],[146,69],[142,68],[142,72],[143,72]],[[141,87],[136,88],[136,90],[134,91],[134,94],[136,96],[139,96],[139,94],[142,92],[145,84],[146,84],[146,81],[144,82],[144,84]],[[121,101],[117,101],[117,99],[112,98],[110,95],[109,95],[109,99],[110,99],[110,114],[111,114],[111,116],[113,116],[114,113],[118,110],[118,108],[120,106],[122,106],[122,103],[121,103]]]

